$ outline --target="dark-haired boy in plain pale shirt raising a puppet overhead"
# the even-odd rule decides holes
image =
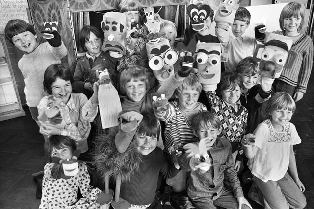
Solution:
[[[231,26],[231,31],[235,37],[228,34],[225,29],[216,26],[215,34],[224,46],[224,53],[227,55],[226,71],[234,72],[237,64],[243,58],[253,56],[257,42],[254,38],[243,35],[250,24],[250,20],[250,12],[244,7],[239,7]]]

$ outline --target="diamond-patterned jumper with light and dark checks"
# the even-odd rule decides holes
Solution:
[[[241,160],[243,150],[240,142],[245,134],[247,109],[241,105],[239,110],[235,112],[223,99],[218,97],[215,91],[207,92],[206,96],[211,105],[211,112],[215,113],[221,121],[222,131],[220,136],[231,142],[232,153],[239,151],[236,160]]]

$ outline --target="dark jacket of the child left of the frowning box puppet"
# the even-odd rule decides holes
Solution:
[[[112,77],[115,78],[114,76],[114,68],[110,68],[109,62],[106,60],[105,57],[105,52],[101,51],[100,55],[95,59],[93,66],[90,66],[89,60],[86,55],[84,57],[80,58],[76,64],[75,71],[74,71],[74,85],[73,89],[77,91],[78,93],[84,93],[88,98],[90,98],[93,94],[92,91],[89,91],[87,89],[84,89],[84,84],[89,81],[89,75],[90,75],[90,70],[97,66],[101,65],[104,68],[109,68],[109,74],[111,76],[111,82],[113,86],[116,87],[117,80],[113,80]],[[116,79],[116,78],[115,78]]]

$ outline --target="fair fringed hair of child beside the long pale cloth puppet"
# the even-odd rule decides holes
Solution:
[[[139,65],[128,65],[120,75],[120,91],[121,93],[126,93],[125,84],[130,82],[131,80],[139,80],[144,81],[147,87],[149,86],[147,76],[146,76],[147,68],[144,68]]]

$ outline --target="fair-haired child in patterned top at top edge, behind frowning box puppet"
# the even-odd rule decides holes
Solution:
[[[132,28],[131,23],[139,23],[139,6],[134,0],[121,0],[118,8],[118,12],[122,12],[127,17],[127,56],[139,55],[142,47],[145,45],[147,31],[144,27],[141,28]],[[132,37],[132,33],[135,31],[138,32],[139,37]]]

